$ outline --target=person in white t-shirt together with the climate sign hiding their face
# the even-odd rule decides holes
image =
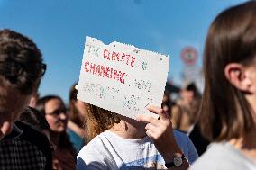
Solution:
[[[187,160],[191,164],[197,159],[191,140],[172,130],[161,108],[146,109],[152,103],[160,106],[168,70],[168,56],[120,42],[105,45],[87,37],[77,97],[89,103],[89,143],[78,153],[78,170],[187,169]],[[160,120],[153,118],[154,113]],[[136,120],[140,114],[151,117]],[[165,141],[169,146],[163,150]]]

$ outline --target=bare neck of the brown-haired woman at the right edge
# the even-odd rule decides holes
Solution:
[[[256,127],[252,128],[244,137],[239,139],[231,139],[229,143],[241,150],[242,154],[245,157],[249,157],[252,160],[256,161]]]

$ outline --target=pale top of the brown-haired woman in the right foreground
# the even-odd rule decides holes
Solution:
[[[213,143],[189,170],[205,169],[256,170],[256,162],[245,157],[241,151],[227,142]]]

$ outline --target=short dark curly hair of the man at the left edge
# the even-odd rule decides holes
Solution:
[[[21,94],[32,94],[46,65],[36,44],[22,34],[0,30],[0,85],[13,85]]]

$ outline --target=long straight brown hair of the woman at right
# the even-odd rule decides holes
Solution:
[[[224,76],[229,63],[247,66],[256,54],[256,1],[231,7],[211,24],[204,53],[205,90],[200,113],[203,134],[222,141],[251,130],[250,106],[244,92]]]

